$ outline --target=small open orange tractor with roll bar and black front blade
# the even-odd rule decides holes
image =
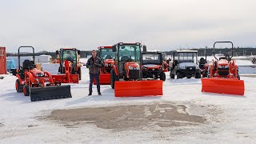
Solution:
[[[33,50],[33,61],[26,59],[20,62],[20,49],[31,48]],[[38,70],[34,64],[34,47],[20,46],[18,48],[18,69],[15,73],[18,78],[15,88],[18,93],[23,92],[25,96],[30,96],[31,102],[58,98],[72,98],[70,86],[61,86],[60,82],[55,82],[52,75],[47,71]]]

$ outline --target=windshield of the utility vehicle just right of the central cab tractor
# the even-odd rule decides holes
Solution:
[[[162,65],[161,59],[161,54],[142,54],[142,65]]]

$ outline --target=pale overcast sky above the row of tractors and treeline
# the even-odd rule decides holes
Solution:
[[[142,42],[152,50],[256,46],[255,0],[0,0],[0,46],[93,50]]]

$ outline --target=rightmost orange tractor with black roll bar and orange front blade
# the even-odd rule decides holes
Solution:
[[[215,57],[208,67],[208,78],[202,78],[202,92],[218,93],[218,94],[236,94],[243,95],[245,86],[243,80],[240,80],[238,66],[233,57],[232,42],[215,42],[216,43],[231,43],[232,56]]]

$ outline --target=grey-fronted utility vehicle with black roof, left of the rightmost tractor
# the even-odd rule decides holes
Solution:
[[[169,64],[170,78],[201,78],[197,50],[174,50]]]

